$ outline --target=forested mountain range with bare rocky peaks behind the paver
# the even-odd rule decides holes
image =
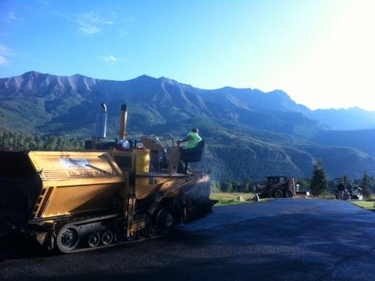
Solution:
[[[374,112],[313,111],[280,90],[205,90],[146,75],[109,81],[27,72],[0,79],[0,129],[88,139],[100,103],[108,107],[108,138],[116,138],[122,103],[128,104],[131,138],[183,137],[197,126],[207,142],[203,165],[217,180],[310,177],[318,158],[330,177],[375,174],[374,145],[365,140],[375,136]]]

